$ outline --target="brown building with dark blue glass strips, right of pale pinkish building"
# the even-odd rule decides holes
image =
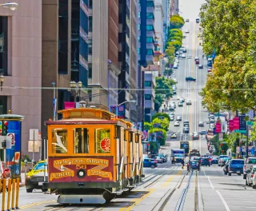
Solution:
[[[64,109],[65,102],[79,100],[78,94],[70,92],[71,81],[88,86],[91,3],[88,0],[42,0],[42,87],[52,88],[42,89],[39,121],[43,137],[47,136],[44,121],[54,118],[53,98],[57,99],[57,109]],[[85,95],[82,90],[81,97]]]

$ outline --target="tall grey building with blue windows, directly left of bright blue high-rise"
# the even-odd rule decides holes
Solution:
[[[118,104],[138,102],[138,1],[118,1]],[[137,105],[125,103],[125,117],[138,121]]]

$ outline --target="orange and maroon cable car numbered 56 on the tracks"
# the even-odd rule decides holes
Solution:
[[[103,109],[65,109],[46,121],[48,182],[61,204],[103,204],[142,181],[142,132]]]

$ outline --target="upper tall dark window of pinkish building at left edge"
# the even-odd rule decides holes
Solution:
[[[8,75],[8,18],[0,17],[0,75]]]

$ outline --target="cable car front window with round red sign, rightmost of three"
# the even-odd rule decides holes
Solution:
[[[95,129],[95,153],[110,153],[110,129]]]

